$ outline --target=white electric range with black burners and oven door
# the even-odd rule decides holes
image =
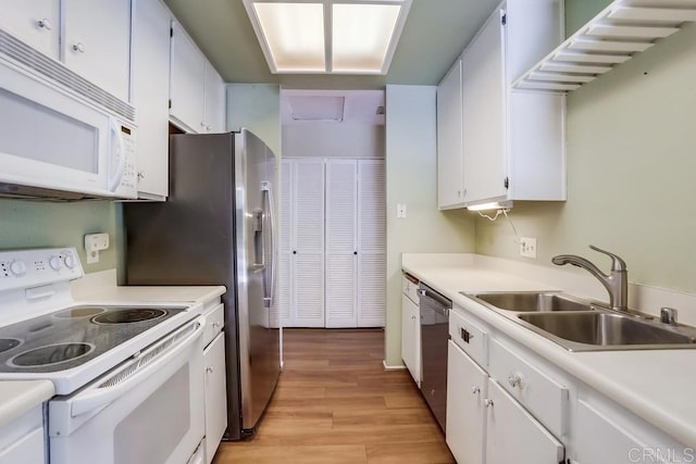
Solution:
[[[78,304],[70,280],[82,276],[73,248],[0,252],[0,380],[53,383],[47,462],[200,459],[200,304]]]

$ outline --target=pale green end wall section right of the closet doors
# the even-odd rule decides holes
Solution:
[[[401,253],[474,250],[473,216],[437,211],[436,88],[387,86],[387,315],[385,361],[401,362]],[[407,217],[396,217],[406,203]]]

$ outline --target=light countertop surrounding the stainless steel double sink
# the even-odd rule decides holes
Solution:
[[[580,281],[552,268],[472,254],[403,254],[402,268],[675,440],[696,448],[696,350],[570,352],[459,293],[564,290],[585,297],[601,294],[584,276],[577,276],[585,279]]]

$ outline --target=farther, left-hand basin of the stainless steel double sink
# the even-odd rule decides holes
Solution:
[[[469,294],[486,305],[514,312],[589,311],[593,305],[561,292],[498,292]]]

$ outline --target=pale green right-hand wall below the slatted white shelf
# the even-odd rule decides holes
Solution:
[[[515,203],[538,263],[588,243],[623,256],[632,283],[696,291],[696,24],[568,96],[568,201]],[[505,221],[476,222],[476,250],[523,260]]]

